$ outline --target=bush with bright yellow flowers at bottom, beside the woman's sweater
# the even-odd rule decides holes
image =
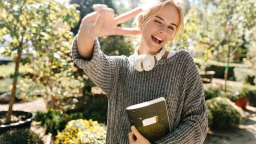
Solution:
[[[97,121],[77,119],[67,122],[55,143],[105,143],[106,127]]]

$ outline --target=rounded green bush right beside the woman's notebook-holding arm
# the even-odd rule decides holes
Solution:
[[[207,110],[212,114],[211,128],[225,128],[240,123],[242,110],[226,97],[206,100]]]

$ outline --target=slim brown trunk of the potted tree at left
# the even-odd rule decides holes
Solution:
[[[9,101],[9,108],[8,111],[6,113],[6,122],[10,123],[10,117],[12,114],[12,105],[15,102],[15,93],[16,93],[16,85],[17,85],[17,78],[18,78],[18,67],[19,67],[19,63],[20,63],[20,59],[21,59],[21,50],[18,49],[18,53],[17,53],[17,59],[16,59],[16,64],[15,64],[15,72],[13,75],[13,83],[12,83],[12,89],[11,89],[11,95],[10,95],[10,101]]]

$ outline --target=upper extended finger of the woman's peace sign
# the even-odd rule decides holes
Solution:
[[[134,17],[135,15],[137,15],[141,11],[142,11],[141,7],[137,7],[128,12],[122,13],[121,15],[114,17],[115,23],[119,24],[124,21],[127,21],[127,20],[131,19],[132,17]]]

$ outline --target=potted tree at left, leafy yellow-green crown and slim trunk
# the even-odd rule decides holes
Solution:
[[[33,56],[32,53],[36,53],[36,56],[47,53],[52,57],[56,53],[65,54],[68,50],[66,47],[72,40],[70,26],[74,27],[77,24],[79,14],[75,5],[63,5],[54,0],[2,0],[0,11],[0,41],[6,40],[3,38],[4,35],[10,35],[11,41],[5,47],[4,54],[15,55],[16,63],[6,115],[6,121],[10,121],[21,54],[25,54],[28,59]],[[58,51],[48,53],[52,49]]]

